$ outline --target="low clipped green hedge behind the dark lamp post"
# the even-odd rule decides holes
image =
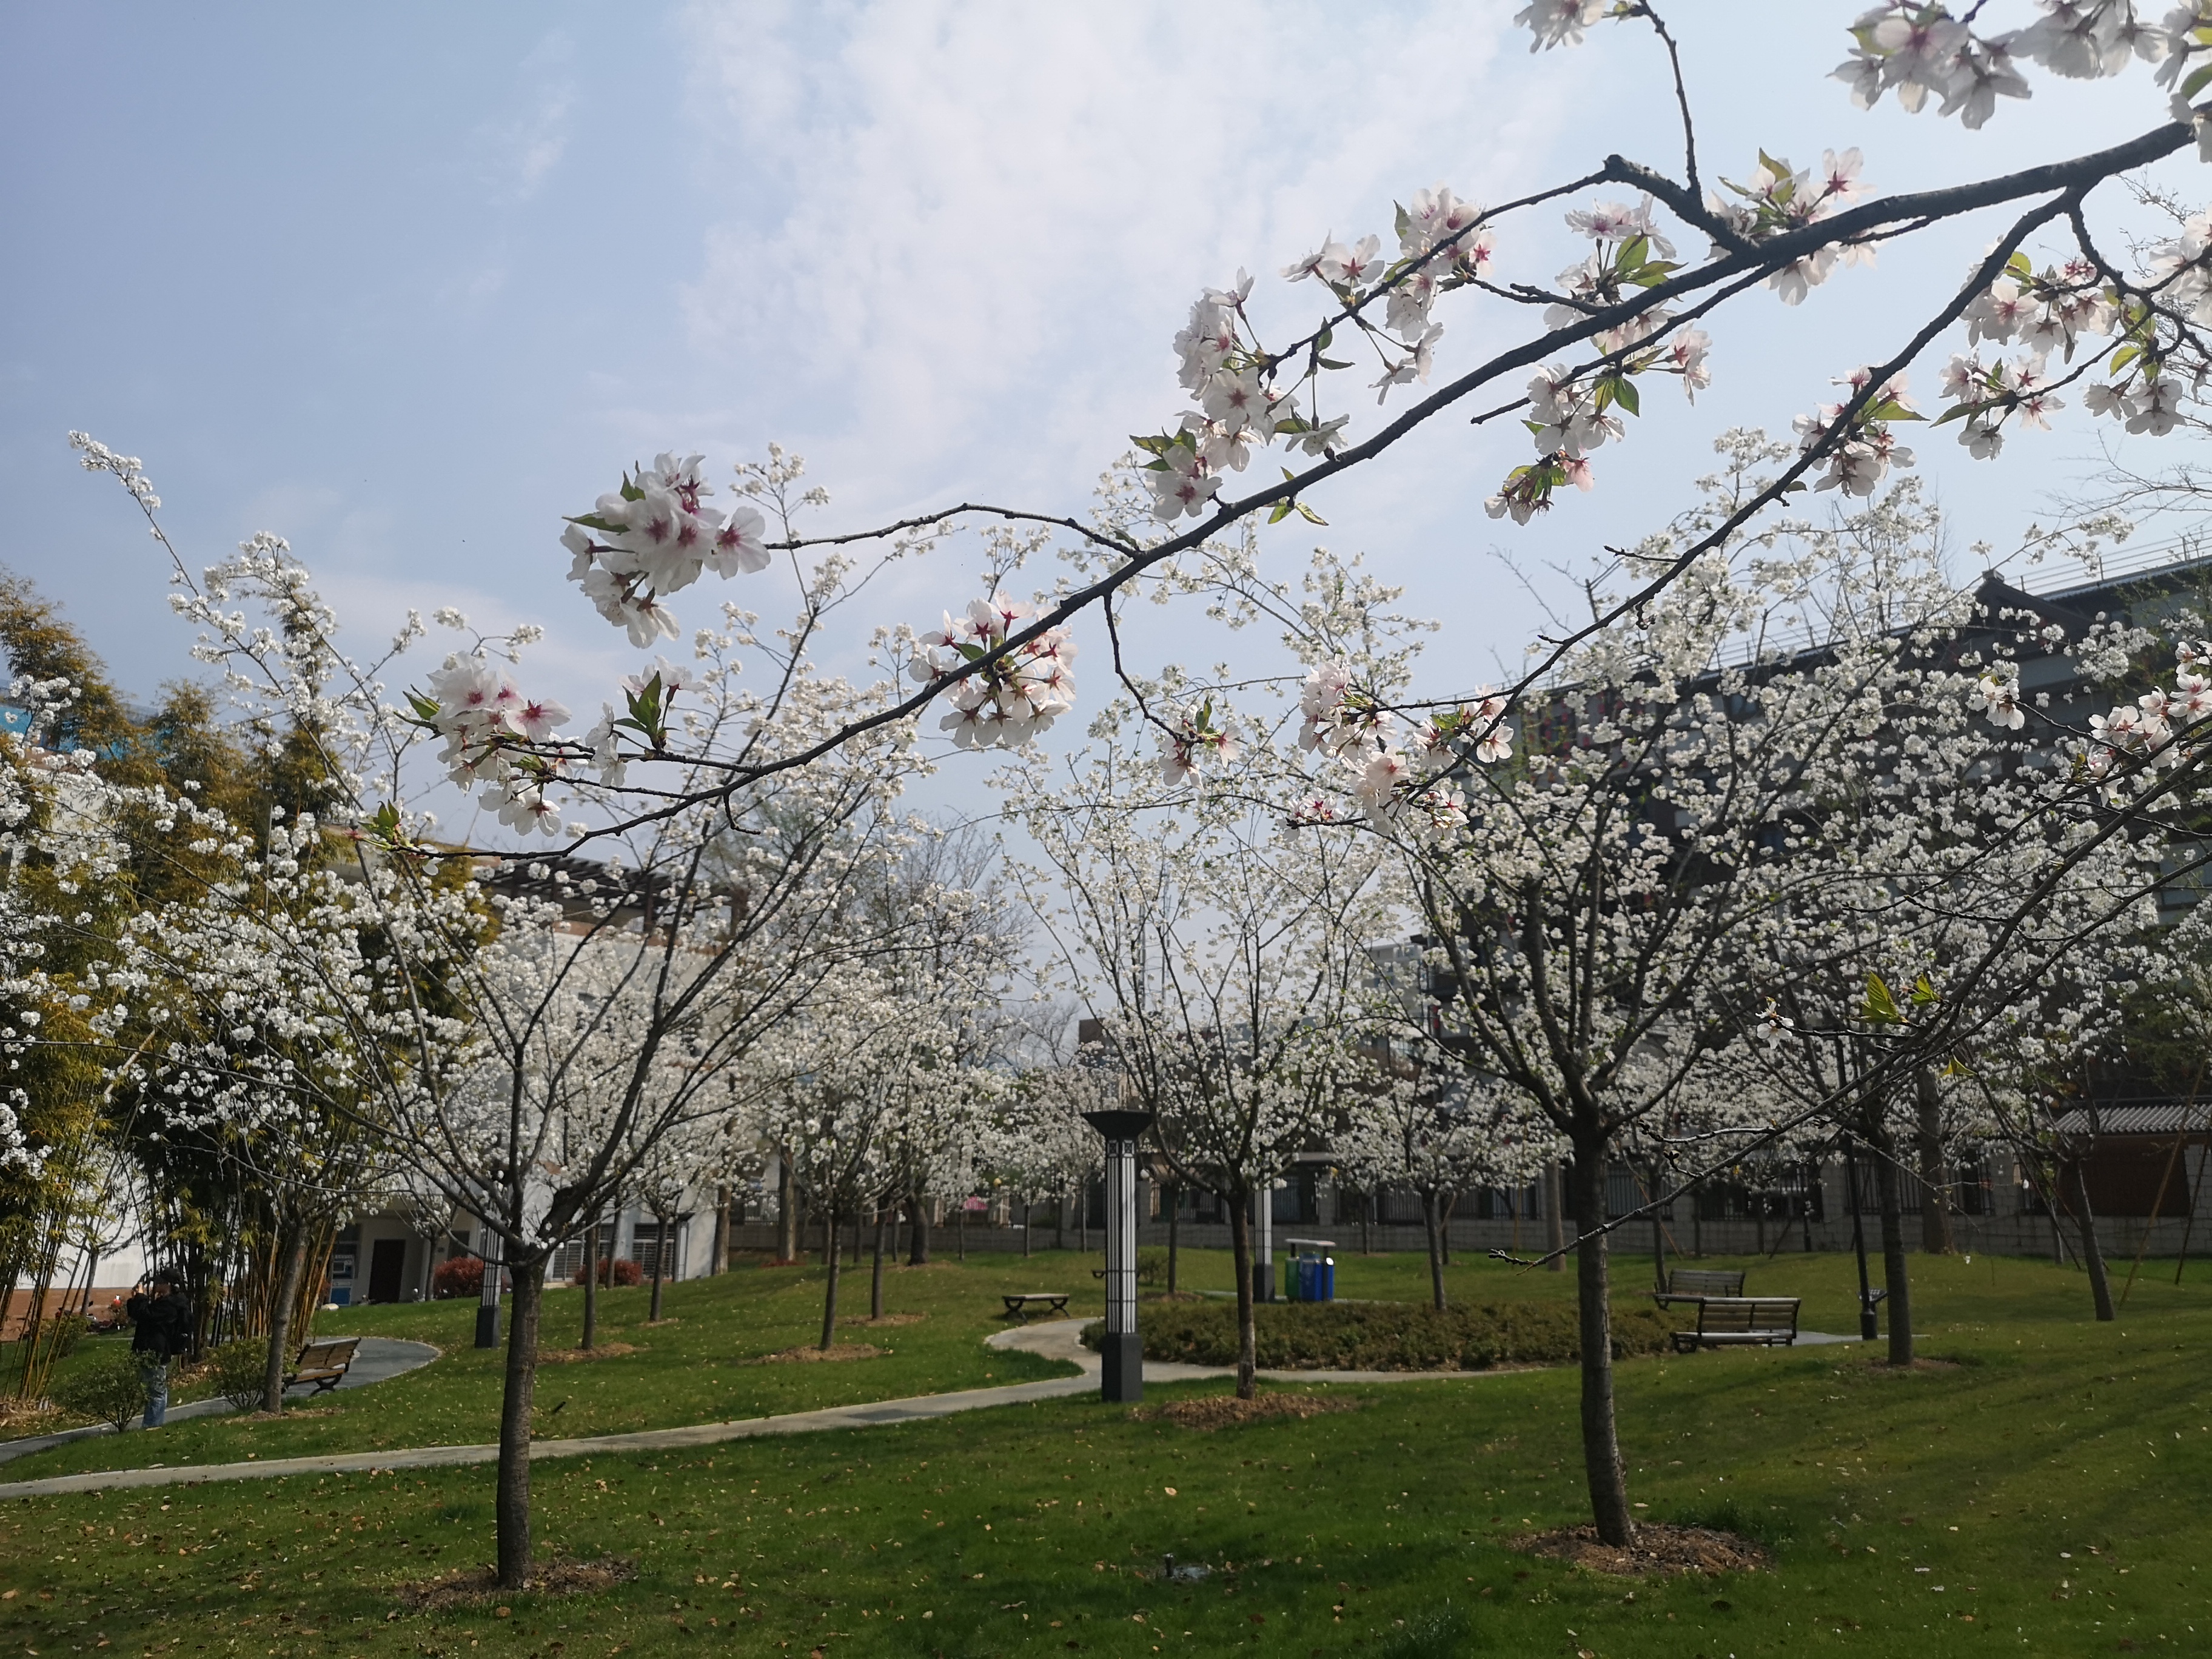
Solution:
[[[1261,1303],[1259,1365],[1267,1371],[1486,1371],[1566,1365],[1582,1356],[1573,1303]],[[1104,1325],[1086,1325],[1097,1347]],[[1237,1303],[1144,1303],[1144,1356],[1186,1365],[1237,1363]],[[1657,1307],[1613,1310],[1615,1356],[1659,1354],[1674,1329]]]

